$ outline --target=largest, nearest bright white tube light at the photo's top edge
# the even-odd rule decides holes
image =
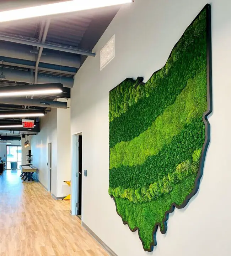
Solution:
[[[0,12],[0,22],[127,4],[133,0],[72,0]]]

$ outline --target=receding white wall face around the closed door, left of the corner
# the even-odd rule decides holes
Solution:
[[[52,143],[52,194],[57,193],[57,109],[40,119],[40,132],[31,139],[33,165],[38,169],[37,179],[49,187],[48,143]]]

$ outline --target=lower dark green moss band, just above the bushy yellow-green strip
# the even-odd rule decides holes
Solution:
[[[138,189],[149,186],[173,172],[178,164],[192,156],[194,150],[202,148],[204,139],[205,127],[202,118],[195,118],[159,154],[148,157],[143,164],[109,170],[109,187]]]

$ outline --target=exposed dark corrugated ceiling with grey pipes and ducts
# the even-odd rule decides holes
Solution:
[[[0,0],[0,5],[1,11],[5,11],[52,2],[58,2],[58,0]],[[86,60],[87,55],[91,55],[93,47],[116,15],[119,7],[105,7],[0,23],[0,64],[3,61],[4,65],[3,68],[0,67],[0,74],[3,73],[6,77],[5,80],[0,80],[0,87],[61,82],[64,87],[71,88],[73,76]],[[43,43],[45,47],[42,49],[33,46],[34,42]],[[50,49],[54,47],[56,50]],[[72,53],[73,51],[78,54]],[[39,53],[41,57],[38,57]],[[26,100],[27,97],[24,98]],[[34,98],[51,101],[56,98],[70,98],[70,89],[58,97],[38,95]],[[0,112],[17,111],[22,108],[28,111],[39,109],[39,107],[29,107],[26,104],[24,106],[2,104],[0,98]],[[8,118],[7,121],[12,122],[12,119]],[[5,122],[6,120],[0,119],[0,124]]]

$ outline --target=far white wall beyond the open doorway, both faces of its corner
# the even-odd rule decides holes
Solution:
[[[59,100],[59,101],[66,101]],[[70,180],[70,99],[69,108],[52,108],[41,118],[40,132],[31,139],[33,165],[38,168],[37,179],[49,189],[48,144],[52,143],[51,193],[57,198],[70,193],[64,180]]]

